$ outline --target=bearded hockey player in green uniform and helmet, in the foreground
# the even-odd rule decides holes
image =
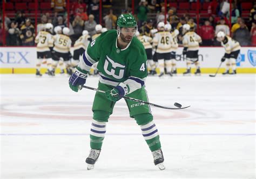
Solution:
[[[93,119],[90,132],[91,151],[86,159],[87,169],[94,168],[106,133],[106,124],[120,99],[118,95],[148,101],[145,90],[147,58],[142,43],[134,37],[137,22],[131,14],[118,17],[117,30],[110,30],[93,40],[80,58],[76,71],[69,79],[70,88],[78,91],[84,85],[93,63],[98,62],[98,89],[93,101]],[[157,127],[154,124],[150,106],[126,100],[130,117],[141,127],[142,134],[149,146],[154,164],[165,169],[164,156]]]

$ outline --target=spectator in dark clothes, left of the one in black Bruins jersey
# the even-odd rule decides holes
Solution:
[[[18,29],[18,23],[12,22],[11,27],[8,30],[8,37],[6,39],[6,45],[8,46],[17,46],[21,45],[19,44],[19,29]]]

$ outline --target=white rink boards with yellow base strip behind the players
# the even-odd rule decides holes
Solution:
[[[186,61],[182,54],[183,48],[177,51],[178,73],[186,70]],[[71,53],[73,50],[71,49]],[[200,47],[199,62],[201,73],[215,73],[224,55],[223,47]],[[36,47],[2,47],[0,49],[0,74],[33,74],[36,67]],[[242,47],[237,59],[237,73],[256,73],[256,48]],[[225,70],[225,64],[221,66],[219,73]],[[42,72],[46,70],[46,64],[42,65]],[[192,73],[194,71],[192,65]],[[57,73],[58,73],[57,69]]]

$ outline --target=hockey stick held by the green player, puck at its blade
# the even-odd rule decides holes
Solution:
[[[82,88],[86,88],[86,89],[94,90],[94,91],[97,91],[97,92],[103,92],[103,93],[105,93],[105,91],[98,90],[98,89],[96,89],[96,88],[87,87],[87,86],[85,86],[85,85],[79,85],[78,89],[80,90],[80,89],[82,89]],[[174,103],[174,106],[176,106],[177,108],[169,108],[169,107],[160,106],[160,105],[157,105],[157,104],[145,102],[145,101],[142,101],[142,100],[139,100],[139,99],[130,98],[130,97],[127,97],[127,96],[121,96],[121,95],[119,95],[119,97],[122,97],[122,98],[125,98],[125,99],[129,99],[129,100],[131,100],[131,101],[135,101],[135,102],[139,102],[139,103],[148,104],[148,105],[151,105],[151,106],[156,106],[156,107],[158,107],[158,108],[163,108],[163,109],[172,109],[172,110],[174,110],[174,109],[186,109],[186,108],[190,107],[190,106],[186,106],[186,107],[181,108],[181,106],[182,106],[181,104],[179,104],[179,103]]]

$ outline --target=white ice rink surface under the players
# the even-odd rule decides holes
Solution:
[[[160,171],[122,99],[95,169],[86,170],[95,91],[68,77],[1,75],[2,178],[255,178],[255,75],[148,77],[165,157]],[[97,87],[98,77],[86,85]]]

